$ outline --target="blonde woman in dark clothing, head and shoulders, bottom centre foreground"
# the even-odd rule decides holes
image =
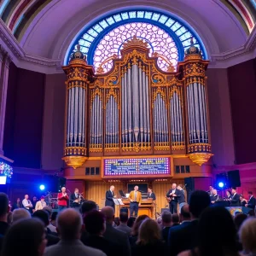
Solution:
[[[160,226],[150,218],[140,225],[137,243],[131,247],[132,256],[167,255],[167,246],[161,241]]]

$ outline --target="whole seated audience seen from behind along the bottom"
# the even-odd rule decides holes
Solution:
[[[157,220],[137,218],[113,207],[97,210],[84,201],[81,212],[72,208],[9,212],[8,196],[0,193],[2,256],[55,255],[242,255],[256,254],[256,218],[211,204],[210,195],[195,190],[180,213],[164,211]]]

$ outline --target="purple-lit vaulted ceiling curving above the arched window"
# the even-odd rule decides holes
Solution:
[[[0,16],[26,55],[63,62],[84,26],[113,10],[142,6],[193,27],[210,58],[241,48],[255,31],[254,0],[2,0]]]

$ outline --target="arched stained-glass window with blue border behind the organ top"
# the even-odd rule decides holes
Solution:
[[[102,67],[108,72],[113,65],[113,55],[120,56],[125,41],[136,36],[142,38],[150,46],[150,54],[159,56],[159,67],[167,71],[170,65],[176,69],[177,61],[183,61],[184,51],[191,45],[194,38],[195,46],[201,49],[203,58],[207,58],[201,39],[181,20],[161,13],[145,9],[119,11],[97,20],[84,28],[84,31],[73,40],[69,56],[75,51],[75,45],[81,45],[88,64],[96,69]]]

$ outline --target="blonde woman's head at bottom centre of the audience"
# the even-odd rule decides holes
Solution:
[[[160,226],[154,221],[154,219],[144,219],[143,223],[139,227],[137,244],[152,245],[160,241],[160,238]]]

